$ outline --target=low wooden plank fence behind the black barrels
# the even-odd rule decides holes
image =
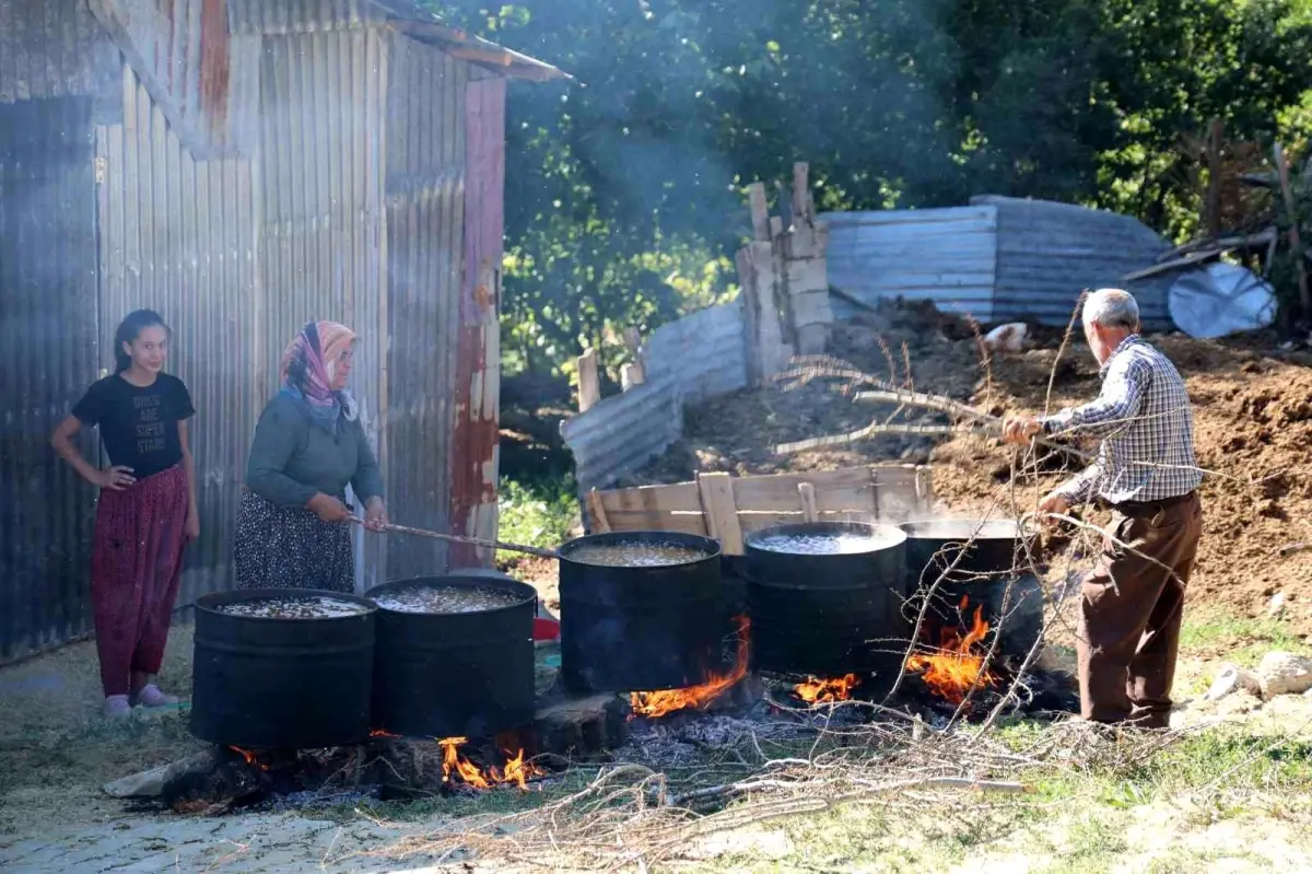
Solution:
[[[681,531],[714,537],[727,555],[743,537],[807,521],[901,522],[934,503],[928,466],[875,465],[804,474],[699,474],[687,483],[590,491],[593,533]]]

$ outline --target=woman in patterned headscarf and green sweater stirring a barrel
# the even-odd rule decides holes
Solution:
[[[237,588],[353,592],[346,486],[365,525],[387,522],[383,478],[346,390],[356,335],[311,322],[282,356],[282,390],[256,425],[237,514]]]

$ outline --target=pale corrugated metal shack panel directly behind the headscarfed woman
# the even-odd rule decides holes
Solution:
[[[352,388],[375,447],[387,416],[387,226],[383,213],[387,41],[379,30],[264,38],[258,235],[269,395],[287,343],[311,319],[359,337]],[[390,459],[379,453],[386,466]],[[380,538],[367,538],[371,551]],[[371,554],[370,585],[382,573]]]

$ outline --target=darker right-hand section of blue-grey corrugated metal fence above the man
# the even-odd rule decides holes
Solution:
[[[1153,264],[1170,248],[1128,215],[1009,197],[971,202],[997,210],[994,322],[1064,325],[1084,289],[1124,287],[1123,276]],[[1149,328],[1172,327],[1169,285],[1165,277],[1130,287]]]

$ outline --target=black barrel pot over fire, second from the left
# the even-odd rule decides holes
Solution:
[[[416,585],[495,589],[514,602],[474,613],[409,613],[379,606],[374,727],[430,738],[488,736],[533,722],[530,585],[485,573],[398,580],[370,598]],[[384,602],[386,604],[386,602]]]

